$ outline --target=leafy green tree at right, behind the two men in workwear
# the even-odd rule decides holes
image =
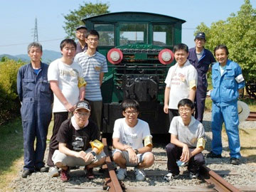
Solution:
[[[206,48],[225,44],[229,58],[239,63],[245,80],[256,79],[256,9],[252,9],[250,0],[240,7],[237,14],[230,14],[226,21],[217,21],[208,28],[204,23],[197,26],[207,36]]]

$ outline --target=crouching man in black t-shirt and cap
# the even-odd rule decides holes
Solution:
[[[97,140],[98,129],[89,117],[89,103],[79,101],[74,116],[65,120],[58,131],[59,150],[55,150],[52,159],[61,169],[60,178],[64,182],[70,178],[70,166],[85,166],[87,178],[94,178],[92,168],[105,162],[103,144]]]

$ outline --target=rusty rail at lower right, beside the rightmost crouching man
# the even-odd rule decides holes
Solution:
[[[221,176],[210,170],[206,165],[200,167],[200,175],[206,183],[213,185],[219,192],[240,192],[238,188],[225,181]]]

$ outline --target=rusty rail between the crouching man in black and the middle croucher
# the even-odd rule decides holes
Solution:
[[[117,179],[117,175],[114,171],[114,166],[110,159],[110,153],[107,149],[107,139],[102,138],[102,143],[104,144],[104,152],[106,154],[105,164],[102,166],[102,169],[105,169],[105,184],[103,189],[110,192],[122,192],[122,187]]]

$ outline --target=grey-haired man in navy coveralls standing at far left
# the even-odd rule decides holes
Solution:
[[[48,65],[41,63],[43,54],[40,43],[28,45],[31,63],[21,66],[17,74],[17,91],[21,100],[23,127],[24,166],[22,177],[33,171],[47,172],[43,157],[50,124],[53,92],[47,79]],[[36,149],[34,142],[36,139]]]

